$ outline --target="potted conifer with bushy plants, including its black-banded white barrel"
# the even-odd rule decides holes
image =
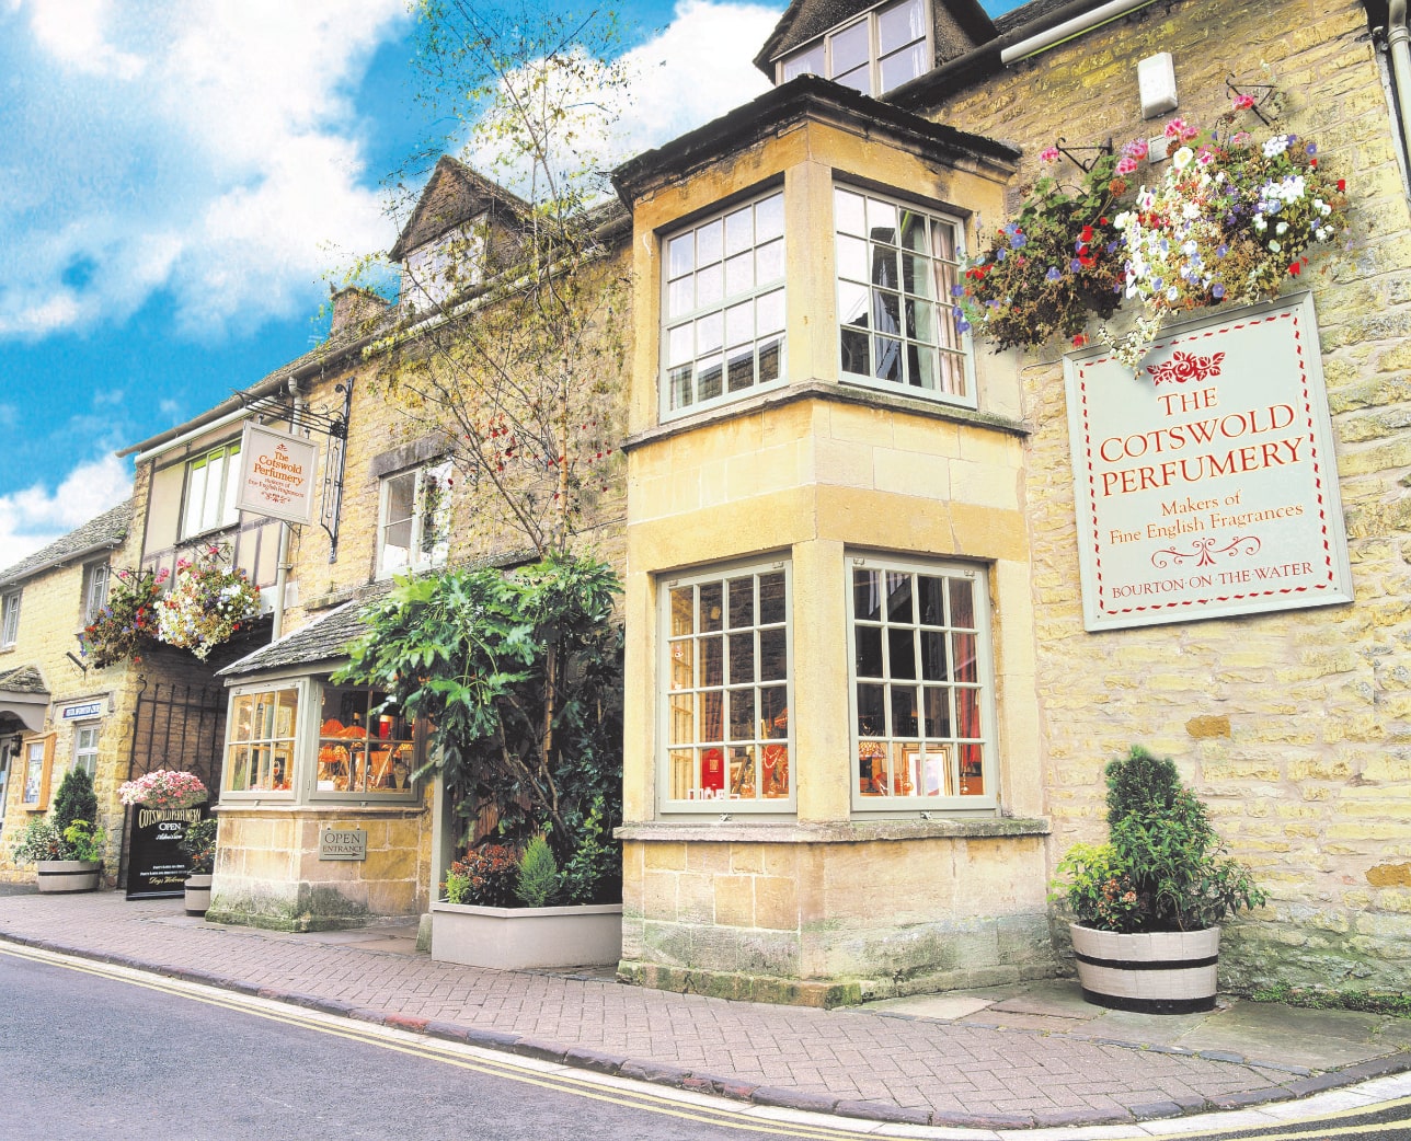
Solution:
[[[1109,839],[1074,845],[1053,894],[1075,918],[1084,997],[1151,1014],[1212,1010],[1219,922],[1264,893],[1168,757],[1134,745],[1106,780]]]

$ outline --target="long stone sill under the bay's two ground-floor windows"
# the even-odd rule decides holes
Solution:
[[[614,831],[621,841],[660,843],[871,843],[875,841],[913,839],[1020,839],[1047,836],[1053,831],[1044,818],[1009,819],[875,819],[838,821],[837,824],[751,824],[731,821],[646,821],[625,824]]]

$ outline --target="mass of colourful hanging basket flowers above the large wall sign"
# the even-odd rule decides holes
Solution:
[[[1240,99],[1236,111],[1249,107]],[[1132,182],[1150,162],[1146,140],[1099,155],[1077,190],[1041,176],[952,289],[959,330],[998,348],[1057,336],[1081,347],[1089,319],[1130,302],[1141,309],[1132,330],[1102,326],[1099,337],[1137,371],[1173,315],[1276,298],[1348,231],[1346,182],[1319,165],[1315,144],[1222,135],[1182,118],[1165,126],[1165,138],[1170,158],[1149,169],[1150,185]],[[1060,151],[1040,158],[1055,162]]]

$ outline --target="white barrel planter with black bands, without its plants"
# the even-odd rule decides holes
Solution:
[[[1070,931],[1089,1003],[1141,1014],[1215,1010],[1218,927],[1119,935],[1071,924]]]

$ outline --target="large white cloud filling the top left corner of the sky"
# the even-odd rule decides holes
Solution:
[[[351,92],[402,0],[0,7],[0,338],[188,330],[315,303],[329,247],[387,248]]]

